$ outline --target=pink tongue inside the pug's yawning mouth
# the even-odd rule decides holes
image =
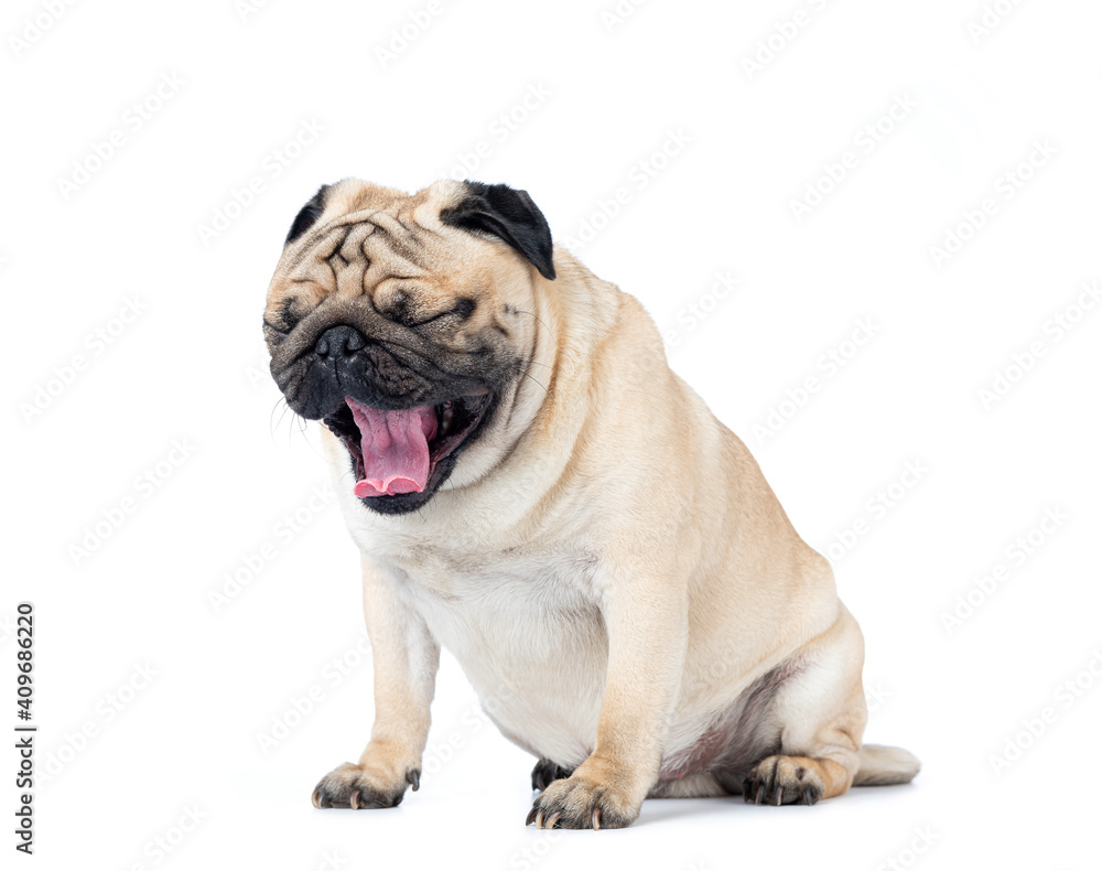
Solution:
[[[364,480],[353,491],[360,498],[420,493],[429,480],[429,439],[436,434],[432,406],[385,411],[345,397],[359,427]]]

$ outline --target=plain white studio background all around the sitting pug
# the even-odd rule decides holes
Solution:
[[[1102,312],[1077,299],[1102,280],[1102,8],[1001,0],[981,32],[979,0],[735,6],[6,4],[0,697],[14,721],[30,600],[52,774],[19,867],[1098,867]],[[882,119],[896,98],[912,108]],[[862,135],[877,122],[879,141]],[[1017,169],[1030,154],[1044,165]],[[264,292],[321,183],[417,190],[453,170],[527,189],[560,240],[599,227],[582,259],[645,302],[671,365],[833,557],[867,638],[866,738],[923,760],[912,785],[526,829],[533,761],[445,657],[421,791],[311,807],[366,742],[370,663],[355,549],[332,496],[311,502],[315,426],[281,413],[267,375]],[[873,337],[843,344],[862,321]],[[833,374],[831,350],[850,354]],[[985,402],[997,373],[1015,383]],[[908,462],[920,480],[893,488]],[[1063,519],[1036,531],[1046,509]],[[1007,741],[1028,746],[998,764]]]

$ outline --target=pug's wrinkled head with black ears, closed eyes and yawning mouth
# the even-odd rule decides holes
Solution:
[[[288,405],[348,451],[355,492],[414,510],[500,426],[531,362],[551,233],[523,191],[355,180],[295,217],[264,312]]]

